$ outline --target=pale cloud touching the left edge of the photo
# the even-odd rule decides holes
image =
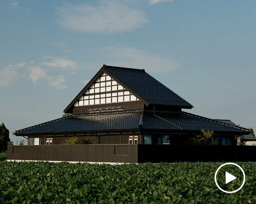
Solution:
[[[10,64],[3,70],[0,70],[0,86],[11,86],[17,82],[22,77],[22,74],[17,69],[23,67],[25,64],[25,62]]]

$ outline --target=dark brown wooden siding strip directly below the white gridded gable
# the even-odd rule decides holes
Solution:
[[[129,102],[120,102],[120,103],[112,103],[112,104],[100,104],[100,105],[92,105],[92,106],[80,106],[74,107],[74,114],[84,114],[89,113],[89,109],[94,108],[104,108],[104,107],[114,107],[114,106],[123,106],[123,110],[138,110],[143,109],[144,104],[141,101],[129,101]]]

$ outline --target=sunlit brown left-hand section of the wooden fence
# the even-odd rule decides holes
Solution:
[[[138,163],[138,145],[8,146],[8,160]]]

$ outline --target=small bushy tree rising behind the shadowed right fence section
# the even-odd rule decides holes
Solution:
[[[202,134],[191,138],[190,142],[194,145],[218,145],[218,138],[213,139],[214,131],[201,130]]]

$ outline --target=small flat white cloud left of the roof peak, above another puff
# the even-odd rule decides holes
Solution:
[[[50,57],[53,58],[53,57]],[[50,62],[42,62],[45,66],[48,67],[59,67],[63,69],[75,69],[76,68],[76,62],[72,60],[66,60],[63,58],[54,58]]]

